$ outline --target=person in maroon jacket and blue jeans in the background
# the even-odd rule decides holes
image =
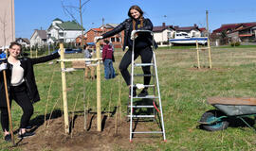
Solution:
[[[105,79],[115,78],[115,70],[113,67],[113,47],[108,40],[104,40],[102,48],[102,60],[104,63]]]

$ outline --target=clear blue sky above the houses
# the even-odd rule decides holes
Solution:
[[[85,2],[86,0],[82,0]],[[15,0],[16,38],[30,38],[34,29],[47,29],[51,21],[60,18],[70,21],[62,4],[79,7],[79,0]],[[83,7],[85,30],[104,23],[119,24],[126,18],[128,9],[138,5],[153,24],[206,27],[206,10],[209,10],[210,31],[222,24],[256,22],[256,0],[90,0]],[[69,9],[70,10],[70,9]],[[79,20],[76,9],[75,17]],[[76,15],[77,14],[77,15]]]

